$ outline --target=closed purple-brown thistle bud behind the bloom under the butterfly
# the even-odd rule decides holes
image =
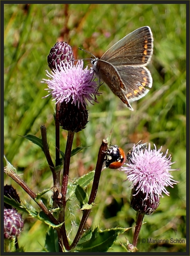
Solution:
[[[72,47],[66,42],[57,42],[50,50],[50,54],[47,57],[48,66],[51,70],[56,69],[56,64],[62,65],[66,63],[74,64],[74,55]],[[59,71],[60,68],[58,67]]]

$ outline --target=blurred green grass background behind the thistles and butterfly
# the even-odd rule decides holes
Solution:
[[[169,149],[175,180],[170,197],[161,199],[156,213],[145,216],[140,231],[140,252],[185,252],[185,244],[143,244],[141,238],[186,238],[186,5],[185,4],[5,4],[4,5],[4,153],[33,191],[52,187],[51,171],[40,148],[19,135],[40,137],[47,128],[48,143],[55,159],[54,109],[45,78],[47,55],[57,41],[68,42],[75,58],[97,57],[133,30],[150,26],[154,52],[148,68],[153,77],[151,91],[132,103],[131,112],[103,84],[99,104],[88,104],[86,129],[75,134],[74,148],[88,146],[71,159],[70,179],[95,168],[99,146],[112,130],[111,142],[127,151],[139,140]],[[89,66],[89,65],[88,65]],[[67,132],[61,130],[64,151]],[[130,184],[126,175],[106,169],[102,172],[96,205],[88,225],[100,228],[135,225],[135,211],[129,205]],[[28,195],[8,177],[22,201],[34,206]],[[50,191],[51,192],[51,191]],[[90,192],[90,188],[88,190]],[[51,193],[48,194],[48,197]],[[75,215],[79,207],[76,204]],[[40,221],[25,216],[19,244],[25,251],[41,251],[47,231]],[[76,218],[76,225],[77,224]],[[75,223],[73,221],[73,223]],[[69,232],[69,230],[68,230]],[[132,242],[134,228],[119,236],[111,252],[124,252],[120,242]],[[72,237],[71,237],[72,239]]]

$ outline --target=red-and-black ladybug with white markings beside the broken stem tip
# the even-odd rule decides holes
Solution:
[[[118,169],[125,163],[125,153],[122,148],[117,145],[111,145],[106,152],[106,167],[110,169]]]

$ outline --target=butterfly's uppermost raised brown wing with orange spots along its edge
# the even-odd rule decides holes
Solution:
[[[100,60],[112,65],[146,66],[153,54],[153,35],[150,27],[141,27],[126,35],[103,54]]]

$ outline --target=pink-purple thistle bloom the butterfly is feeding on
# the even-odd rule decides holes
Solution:
[[[62,62],[61,65],[56,65],[56,69],[51,73],[48,70],[46,72],[46,76],[50,79],[43,79],[41,83],[48,84],[45,90],[50,93],[47,96],[52,95],[56,103],[68,103],[72,100],[71,103],[75,106],[78,104],[79,107],[80,103],[84,106],[87,101],[91,103],[92,100],[96,100],[96,95],[99,95],[96,91],[98,85],[92,81],[94,72],[88,70],[88,67],[83,69],[82,60],[79,60],[76,65]]]

